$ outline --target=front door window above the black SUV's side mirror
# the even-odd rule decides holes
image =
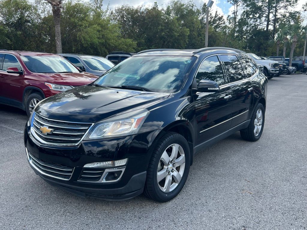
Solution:
[[[202,79],[215,81],[219,84],[219,86],[225,84],[222,67],[217,56],[209,57],[201,64],[196,75],[197,84]]]

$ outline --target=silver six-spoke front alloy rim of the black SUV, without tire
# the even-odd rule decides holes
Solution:
[[[171,144],[163,152],[158,169],[157,182],[165,193],[173,191],[181,181],[185,171],[185,152],[179,144]]]

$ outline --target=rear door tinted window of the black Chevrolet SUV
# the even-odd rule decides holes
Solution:
[[[230,82],[236,82],[245,78],[239,59],[235,55],[221,55],[221,59],[227,69]]]

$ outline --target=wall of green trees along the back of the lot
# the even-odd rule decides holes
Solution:
[[[297,0],[227,0],[234,11],[226,18],[209,9],[208,46],[249,50],[271,56],[286,48],[302,55],[305,31]],[[195,1],[194,1],[195,2]],[[206,4],[173,0],[166,6],[124,5],[105,9],[103,0],[65,0],[61,9],[65,53],[105,56],[111,51],[151,48],[196,49],[205,44]],[[0,48],[56,52],[51,6],[41,0],[0,0]],[[290,49],[291,48],[291,49]]]

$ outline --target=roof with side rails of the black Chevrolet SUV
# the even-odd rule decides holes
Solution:
[[[225,47],[208,47],[201,49],[151,49],[138,52],[135,56],[196,56],[203,53],[217,52],[217,53],[231,53],[244,54],[245,52]]]

